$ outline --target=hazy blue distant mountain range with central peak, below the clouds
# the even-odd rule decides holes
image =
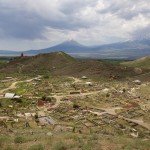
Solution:
[[[150,55],[150,39],[140,41],[127,41],[100,46],[84,46],[74,40],[65,41],[53,47],[40,50],[27,51],[6,51],[0,50],[0,55],[36,55],[40,53],[50,53],[63,51],[76,58],[92,59],[138,59]]]

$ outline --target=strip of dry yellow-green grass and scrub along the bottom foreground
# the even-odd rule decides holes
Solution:
[[[51,129],[49,129],[51,131]],[[32,130],[33,135],[28,130],[17,131],[23,134],[15,136],[0,136],[1,150],[148,150],[149,140],[127,138],[125,136],[102,136],[95,133],[78,134],[78,133],[56,133],[48,136],[48,129]]]

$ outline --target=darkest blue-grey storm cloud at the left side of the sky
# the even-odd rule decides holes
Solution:
[[[44,22],[34,13],[0,6],[0,37],[42,38]]]

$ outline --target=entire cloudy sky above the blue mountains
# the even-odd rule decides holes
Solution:
[[[0,0],[0,50],[150,37],[150,0]]]

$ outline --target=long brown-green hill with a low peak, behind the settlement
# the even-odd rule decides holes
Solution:
[[[53,69],[55,67],[56,69]],[[33,57],[18,57],[3,69],[6,73],[49,73],[69,76],[111,77],[133,76],[131,68],[120,66],[118,62],[98,60],[76,60],[63,52],[40,54]]]

